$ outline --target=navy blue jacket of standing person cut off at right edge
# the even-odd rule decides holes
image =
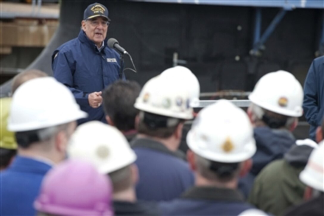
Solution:
[[[309,138],[315,140],[316,128],[324,115],[324,56],[316,58],[304,83],[304,114],[310,124]]]

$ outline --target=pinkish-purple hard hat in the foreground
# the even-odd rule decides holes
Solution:
[[[39,215],[113,215],[107,176],[88,162],[65,161],[44,177],[34,208]]]

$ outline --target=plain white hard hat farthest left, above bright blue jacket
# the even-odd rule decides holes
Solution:
[[[71,91],[52,77],[23,83],[12,98],[8,130],[41,129],[87,117]]]

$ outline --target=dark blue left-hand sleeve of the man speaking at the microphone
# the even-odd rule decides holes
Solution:
[[[68,61],[65,53],[54,52],[52,60],[53,76],[71,90],[78,104],[89,105],[88,93],[73,87],[74,64],[74,62]]]

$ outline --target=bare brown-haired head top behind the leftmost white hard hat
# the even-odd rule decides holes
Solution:
[[[48,75],[46,73],[37,69],[27,70],[17,74],[12,80],[11,95],[13,95],[17,90],[17,88],[24,82],[27,82],[28,80],[34,78],[47,77],[47,76]]]

